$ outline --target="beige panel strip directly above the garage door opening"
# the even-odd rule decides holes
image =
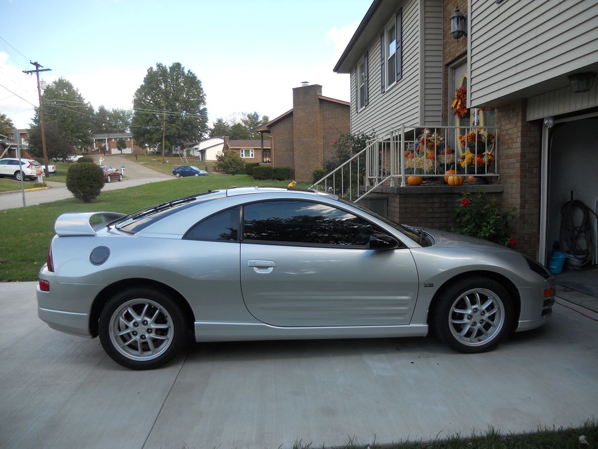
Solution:
[[[527,120],[544,119],[593,107],[598,107],[598,87],[595,82],[588,92],[576,93],[568,86],[528,99]]]

